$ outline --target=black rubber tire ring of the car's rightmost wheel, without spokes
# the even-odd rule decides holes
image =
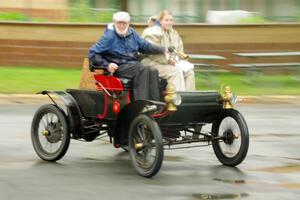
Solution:
[[[239,152],[236,154],[236,156],[229,158],[226,155],[224,155],[220,149],[218,140],[212,141],[213,150],[215,152],[216,157],[218,160],[223,164],[227,166],[237,166],[240,164],[246,157],[249,147],[249,131],[247,127],[247,123],[242,116],[240,112],[234,109],[229,110],[223,110],[222,117],[219,121],[216,123],[213,123],[212,126],[212,133],[213,136],[218,136],[219,132],[219,126],[222,122],[222,120],[226,117],[232,117],[238,124],[240,131],[241,131],[241,146],[239,149]]]

